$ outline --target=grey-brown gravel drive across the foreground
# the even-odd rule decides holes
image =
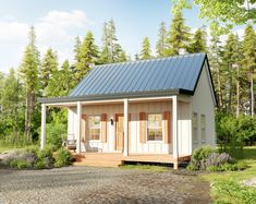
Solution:
[[[196,176],[119,168],[0,169],[0,204],[210,203]]]

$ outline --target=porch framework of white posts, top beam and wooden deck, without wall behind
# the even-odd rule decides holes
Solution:
[[[168,145],[167,154],[145,154],[134,153],[131,151],[130,139],[132,131],[130,129],[130,110],[136,103],[162,103],[170,101],[169,110],[171,111],[171,142]],[[173,164],[174,169],[178,168],[179,161],[183,158],[187,158],[190,154],[184,154],[179,151],[179,145],[182,146],[179,141],[179,103],[185,103],[191,108],[190,97],[187,96],[169,96],[169,97],[147,97],[147,98],[123,98],[123,99],[110,99],[110,100],[72,100],[72,101],[45,101],[41,104],[41,141],[40,147],[44,148],[46,144],[46,107],[59,107],[59,108],[73,108],[76,111],[75,115],[75,132],[74,139],[76,142],[76,154],[82,155],[81,160],[87,164],[118,164],[122,165],[124,161],[145,161],[145,163],[166,163]],[[83,145],[83,110],[89,109],[90,106],[105,106],[105,105],[122,105],[123,116],[123,145],[122,149],[109,153],[84,153]],[[190,127],[188,127],[190,129]],[[117,135],[115,135],[117,136]],[[190,141],[188,141],[190,142]],[[115,144],[117,145],[117,144]],[[180,148],[181,149],[181,148]],[[191,149],[187,149],[191,152]],[[81,154],[82,153],[82,154]],[[84,155],[84,156],[83,156]],[[81,164],[83,164],[81,163]],[[118,166],[114,165],[114,166]],[[105,165],[103,165],[105,166]]]

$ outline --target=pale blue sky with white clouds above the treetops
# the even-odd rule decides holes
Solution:
[[[0,0],[0,72],[8,73],[21,64],[28,29],[35,26],[40,56],[51,47],[59,63],[73,61],[75,36],[94,33],[100,46],[103,22],[113,19],[117,37],[133,58],[142,40],[149,37],[155,49],[159,24],[169,27],[172,15],[170,0]],[[199,10],[184,10],[186,24],[192,28],[206,25]]]

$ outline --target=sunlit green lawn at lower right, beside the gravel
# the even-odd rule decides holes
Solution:
[[[225,171],[225,172],[212,172],[203,173],[200,178],[207,180],[211,184],[211,196],[215,203],[251,203],[246,199],[248,196],[256,196],[256,188],[240,188],[231,187],[232,183],[241,183],[245,179],[256,177],[256,146],[245,147],[243,158],[239,159],[248,165],[248,168],[242,171]],[[216,191],[214,188],[216,183],[227,184],[231,183],[230,187],[227,184],[224,191]],[[243,191],[243,193],[242,193]],[[248,193],[248,196],[246,196]],[[244,196],[242,201],[237,202],[235,196]]]

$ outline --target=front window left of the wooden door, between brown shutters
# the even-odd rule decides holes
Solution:
[[[88,140],[98,141],[100,137],[100,116],[88,117]]]

